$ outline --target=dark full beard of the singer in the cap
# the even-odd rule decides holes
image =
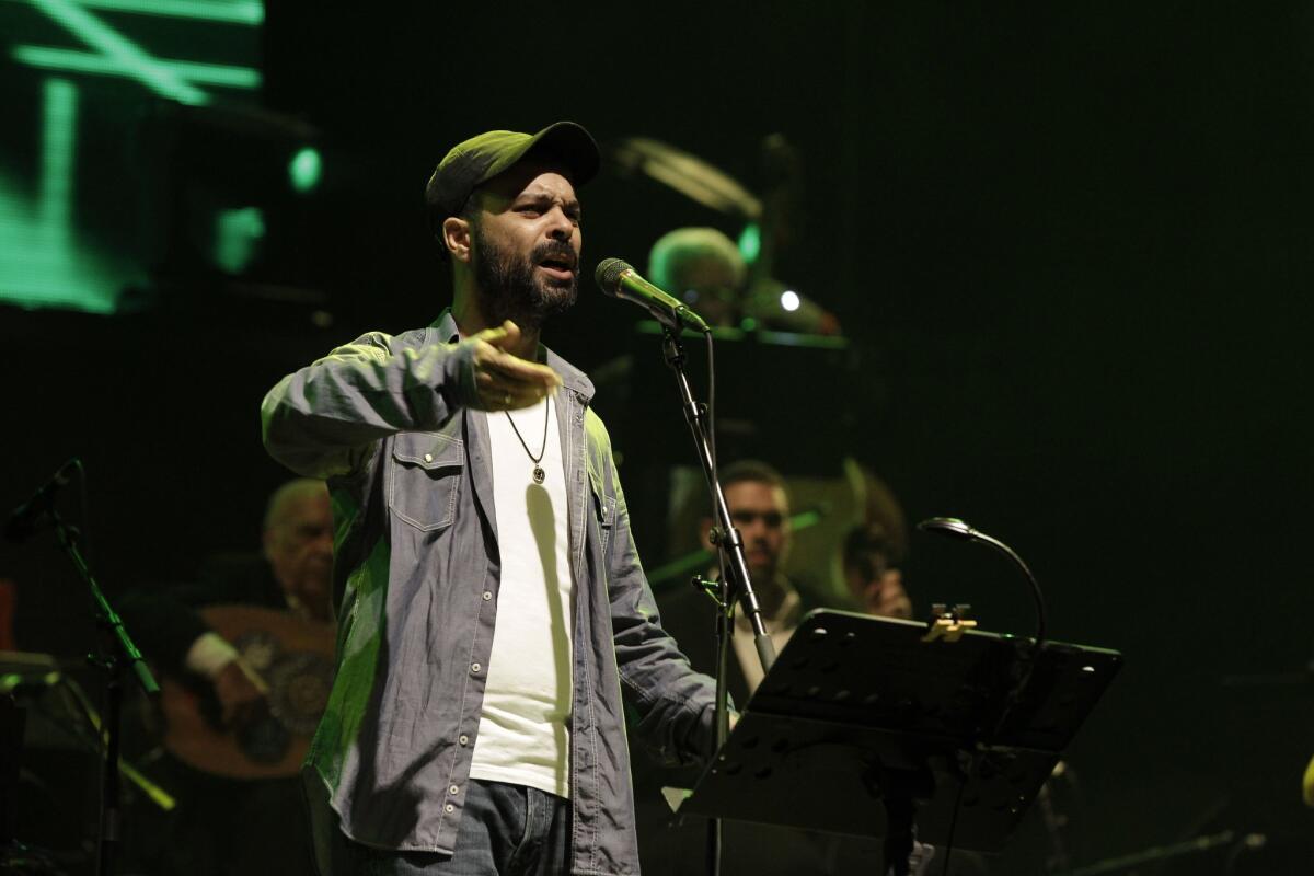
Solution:
[[[568,281],[553,281],[535,271],[551,256],[577,264],[569,243],[540,243],[530,255],[519,256],[484,236],[478,225],[470,226],[470,236],[480,310],[489,326],[501,326],[510,319],[520,328],[537,330],[549,317],[570,310],[579,297],[578,271],[572,271]]]

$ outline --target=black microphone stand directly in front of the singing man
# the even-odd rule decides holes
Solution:
[[[749,624],[753,628],[753,644],[757,647],[757,657],[762,662],[762,671],[767,672],[775,662],[775,646],[770,636],[766,634],[766,624],[762,621],[762,608],[753,590],[753,582],[748,573],[748,561],[744,557],[744,538],[731,521],[729,508],[725,506],[725,494],[721,485],[716,482],[716,462],[712,457],[711,441],[707,433],[707,407],[694,401],[694,394],[689,389],[689,377],[685,374],[685,348],[679,343],[679,332],[665,327],[662,331],[662,352],[666,364],[675,373],[675,383],[679,387],[681,402],[685,408],[685,419],[694,436],[694,445],[698,450],[698,461],[703,466],[703,477],[707,479],[707,489],[712,495],[712,504],[716,511],[716,525],[720,536],[716,548],[721,558],[721,580],[719,582],[719,603],[716,619],[716,712],[715,712],[715,743],[712,756],[725,743],[729,735],[729,696],[727,692],[727,676],[731,653],[731,619],[735,612],[735,598],[744,605]],[[721,820],[712,818],[707,831],[707,867],[711,876],[719,876],[721,869]]]

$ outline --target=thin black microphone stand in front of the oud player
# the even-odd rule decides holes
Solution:
[[[104,759],[100,768],[100,837],[96,873],[97,876],[112,876],[118,858],[120,842],[122,842],[118,750],[124,712],[124,667],[127,666],[133,670],[133,676],[147,695],[158,695],[160,688],[142,661],[142,653],[137,650],[127,629],[124,628],[124,621],[105,599],[104,591],[96,583],[91,567],[83,558],[81,550],[78,548],[78,529],[66,524],[57,512],[50,511],[49,514],[55,525],[59,545],[68,554],[68,559],[91,591],[96,625],[104,633],[100,653],[88,654],[87,659],[105,671],[105,714],[101,722]]]

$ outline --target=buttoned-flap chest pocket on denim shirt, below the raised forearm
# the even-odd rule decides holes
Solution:
[[[393,439],[388,506],[420,532],[452,525],[464,479],[465,445],[440,432],[399,432]]]

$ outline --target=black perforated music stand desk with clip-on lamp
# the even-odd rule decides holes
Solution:
[[[811,612],[679,814],[883,837],[895,872],[913,834],[999,852],[1122,658],[1046,642],[1029,666],[1030,640],[926,632]]]

